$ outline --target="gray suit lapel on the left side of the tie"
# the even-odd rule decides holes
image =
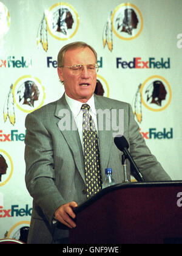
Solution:
[[[66,115],[67,117],[65,117]],[[59,121],[57,123],[59,130],[67,141],[70,151],[73,152],[76,167],[84,182],[86,183],[84,174],[83,148],[81,146],[81,141],[79,138],[75,119],[73,118],[72,111],[70,110],[69,105],[66,102],[64,94],[57,103],[55,116],[59,118]],[[64,126],[67,125],[67,130],[62,130],[63,123]]]

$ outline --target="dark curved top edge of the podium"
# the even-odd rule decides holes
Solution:
[[[74,209],[75,214],[81,212],[87,206],[93,204],[93,202],[97,201],[99,198],[104,196],[114,190],[125,189],[125,188],[141,188],[141,187],[182,187],[182,180],[170,180],[170,181],[159,181],[159,182],[127,182],[127,183],[118,183],[112,185],[110,187],[104,188],[103,190],[99,191],[95,196],[92,196],[87,201],[83,202],[82,204],[78,205]]]

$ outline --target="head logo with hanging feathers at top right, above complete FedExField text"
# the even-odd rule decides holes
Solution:
[[[103,45],[113,49],[112,32],[123,40],[132,40],[140,35],[143,18],[140,10],[133,4],[121,4],[110,12],[103,30]]]

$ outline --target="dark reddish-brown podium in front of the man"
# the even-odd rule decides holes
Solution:
[[[70,230],[69,241],[182,244],[180,192],[182,195],[182,181],[133,182],[105,188],[75,209],[77,226]]]

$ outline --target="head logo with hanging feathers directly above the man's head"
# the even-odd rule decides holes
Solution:
[[[57,3],[45,11],[41,23],[39,24],[36,43],[45,52],[48,50],[48,33],[57,40],[67,40],[72,38],[79,26],[78,13],[67,3]]]

